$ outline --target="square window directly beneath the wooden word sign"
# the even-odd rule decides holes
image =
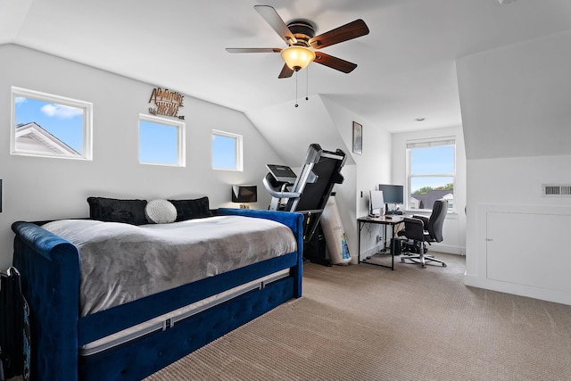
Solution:
[[[139,162],[185,166],[185,123],[139,115]]]

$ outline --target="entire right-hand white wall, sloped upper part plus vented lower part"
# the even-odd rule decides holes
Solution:
[[[490,264],[484,242],[487,235],[495,235],[493,227],[486,225],[487,211],[509,210],[517,219],[517,213],[530,208],[550,210],[553,215],[557,214],[553,208],[571,206],[570,197],[541,195],[542,183],[571,183],[571,33],[468,56],[457,62],[457,68],[468,157],[465,282],[569,303],[571,290],[561,294],[548,288],[530,288],[524,282],[488,278],[486,267]],[[547,221],[558,224],[559,218],[548,217]],[[521,231],[521,239],[545,240],[544,252],[522,251],[514,243],[503,254],[514,263],[534,258],[559,266],[558,256],[568,256],[569,250],[547,241],[565,242],[565,237],[536,236],[535,231],[531,226]],[[526,270],[534,271],[533,266]]]

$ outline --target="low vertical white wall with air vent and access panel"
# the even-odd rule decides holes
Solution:
[[[560,289],[538,286],[541,282],[534,282],[530,286],[544,265],[552,269],[546,277],[559,277],[552,280],[571,286],[565,265],[571,258],[571,250],[567,247],[567,236],[556,233],[562,228],[567,233],[571,231],[569,219],[560,218],[560,215],[571,214],[571,197],[542,196],[542,184],[571,184],[569,168],[571,155],[468,161],[465,279],[468,286],[571,304],[571,288],[562,292]],[[488,225],[490,212],[509,213],[512,219],[506,225],[517,229],[517,240],[504,247],[503,255],[513,264],[506,269],[491,269],[493,258],[490,255],[493,252],[488,251],[486,240],[493,238],[498,241],[500,237],[494,226]],[[517,225],[519,220],[530,214],[537,215],[535,223],[523,228]],[[522,263],[527,263],[527,266],[522,268]],[[561,268],[567,269],[563,275],[558,273]],[[492,273],[502,275],[492,277]],[[514,277],[527,280],[510,280]]]

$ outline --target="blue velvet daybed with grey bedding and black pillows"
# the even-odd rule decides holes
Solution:
[[[113,199],[90,198],[88,202],[90,219],[12,224],[13,265],[21,272],[22,290],[30,306],[32,379],[141,379],[302,295],[301,214],[229,208],[211,211],[207,198],[170,200],[177,218],[172,223],[149,224],[145,211],[145,219],[140,215],[141,207],[145,210],[148,206],[145,200],[130,200],[128,208]],[[264,239],[235,236],[229,246],[211,236],[219,225],[245,227],[245,220],[256,222],[254,226],[261,221],[282,229],[285,226],[287,233],[263,233]],[[74,231],[73,227],[78,228]],[[115,228],[135,238],[121,236],[110,244],[109,235],[115,234]],[[153,232],[149,233],[149,228]],[[201,244],[200,255],[194,253],[188,261],[169,264],[162,257],[175,254],[163,250],[162,241],[174,241],[177,251],[186,253],[187,243],[180,234],[185,229],[187,236],[198,237],[194,241]],[[99,232],[95,241],[107,244],[103,250],[89,251],[83,234],[88,230]],[[154,246],[139,249],[140,235],[148,236]],[[293,237],[293,246],[291,242],[282,246],[287,253],[261,257],[252,253],[265,252],[257,249],[257,244],[263,245],[268,237],[273,243],[276,235]],[[125,245],[127,241],[134,242],[134,249]],[[114,253],[118,248],[121,252]],[[145,252],[139,257],[142,259],[128,258],[127,253],[137,251]],[[109,266],[109,261],[123,256],[127,259],[120,262],[120,271]],[[107,265],[97,269],[97,262]],[[133,262],[136,268],[129,270]],[[154,262],[159,270],[148,270]],[[233,264],[225,267],[228,262]],[[205,273],[191,275],[191,268],[203,268]],[[175,272],[178,276],[171,277]],[[136,273],[138,277],[134,277]],[[156,273],[161,274],[158,280]],[[90,285],[89,279],[94,280]],[[117,279],[120,281],[115,282]],[[107,285],[110,282],[112,286]]]

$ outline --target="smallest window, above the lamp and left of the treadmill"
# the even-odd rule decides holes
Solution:
[[[212,130],[212,169],[242,170],[242,136]]]

